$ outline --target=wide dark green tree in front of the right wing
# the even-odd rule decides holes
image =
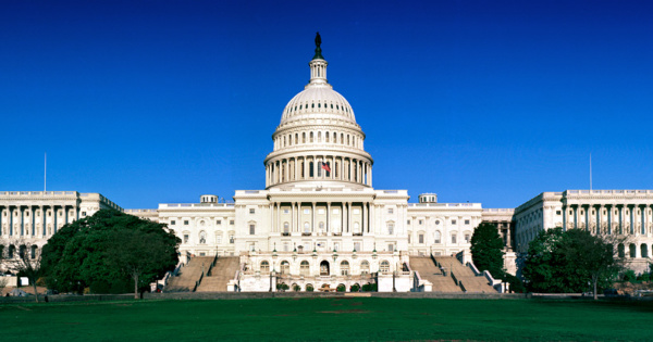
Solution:
[[[523,277],[533,292],[574,293],[593,286],[608,287],[611,278],[623,266],[615,257],[617,237],[592,236],[589,231],[562,228],[540,231],[529,243]]]

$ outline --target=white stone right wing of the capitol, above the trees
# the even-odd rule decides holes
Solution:
[[[559,227],[627,238],[618,253],[628,267],[648,271],[653,248],[653,190],[542,192],[515,210],[517,252],[526,253],[539,231]]]

